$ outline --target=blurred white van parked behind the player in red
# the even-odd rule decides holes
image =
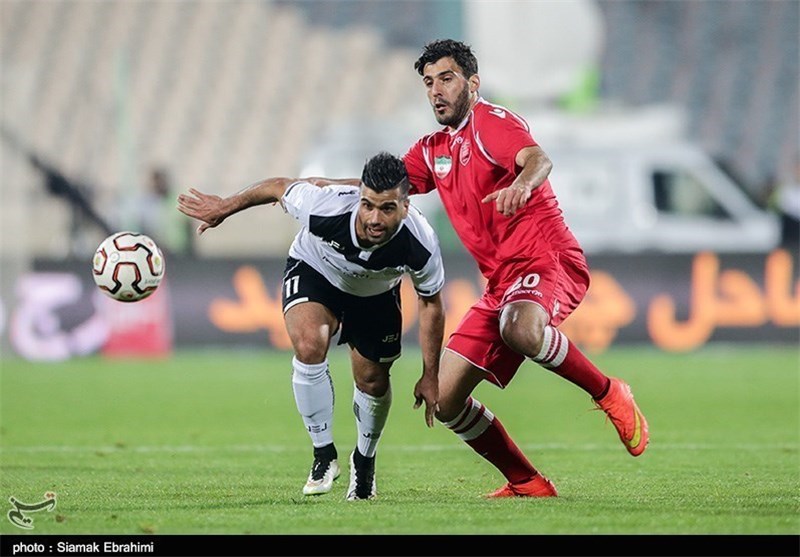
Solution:
[[[548,148],[553,190],[586,253],[768,252],[776,215],[687,143]]]

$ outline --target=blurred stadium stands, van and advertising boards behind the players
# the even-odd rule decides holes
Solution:
[[[226,195],[265,176],[358,175],[376,149],[402,154],[435,128],[413,61],[445,36],[473,45],[482,94],[526,116],[552,153],[554,187],[603,289],[585,305],[609,316],[576,316],[582,344],[798,339],[796,1],[3,0],[0,16],[6,353],[59,359],[110,342],[88,261],[122,229],[168,253],[160,294],[172,299],[151,312],[174,322],[162,344],[264,346],[266,335],[286,348],[275,307],[248,321],[231,299],[243,284],[277,285],[295,223],[254,210],[199,241],[175,195],[190,186]],[[590,159],[598,147],[605,155]],[[656,160],[673,147],[675,158]],[[647,179],[637,182],[624,157],[639,151]],[[644,215],[626,205],[657,197],[663,176],[716,197],[677,209],[653,201]],[[581,200],[617,212],[581,213]],[[479,280],[435,194],[415,203],[440,230],[451,277],[465,281],[453,281],[467,288],[450,300],[456,319]],[[688,218],[697,211],[707,213],[699,228]],[[625,228],[622,215],[638,224]],[[685,339],[680,321],[704,268],[721,288],[743,272],[757,307]],[[120,311],[111,313],[128,319]],[[671,328],[659,329],[659,315]]]

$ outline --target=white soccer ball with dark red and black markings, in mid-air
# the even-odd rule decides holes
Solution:
[[[111,298],[138,302],[155,292],[164,278],[164,255],[144,234],[117,232],[94,253],[92,275]]]

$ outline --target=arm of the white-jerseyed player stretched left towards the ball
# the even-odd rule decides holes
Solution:
[[[296,178],[267,178],[225,198],[189,188],[188,193],[178,195],[178,210],[188,217],[202,221],[197,227],[197,233],[202,234],[248,207],[277,202],[283,197],[286,188],[296,181]]]

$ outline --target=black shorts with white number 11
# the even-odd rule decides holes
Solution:
[[[387,363],[400,357],[403,315],[399,284],[377,296],[353,296],[333,286],[310,265],[289,257],[281,291],[284,313],[303,302],[328,308],[339,320],[338,344],[349,344],[373,362]]]

